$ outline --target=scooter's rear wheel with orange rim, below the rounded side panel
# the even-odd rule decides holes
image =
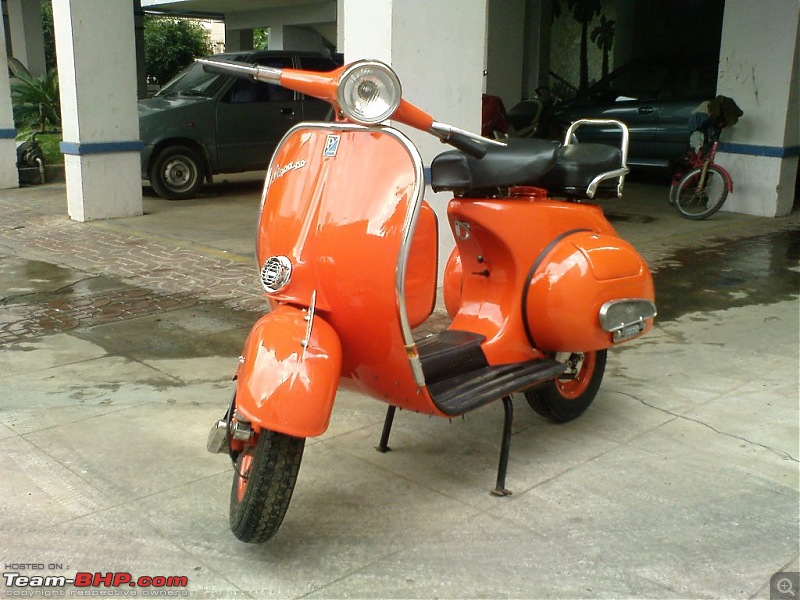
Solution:
[[[556,423],[581,416],[597,395],[606,370],[607,350],[558,353],[555,359],[567,364],[556,380],[525,390],[531,408]]]

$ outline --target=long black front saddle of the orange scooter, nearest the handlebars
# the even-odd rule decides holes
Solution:
[[[459,150],[443,152],[431,163],[431,187],[458,194],[533,185],[553,167],[558,148],[558,142],[520,138],[508,140],[506,146],[489,146],[481,159]]]

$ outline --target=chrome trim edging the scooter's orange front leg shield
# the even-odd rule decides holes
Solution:
[[[397,268],[395,270],[395,293],[397,314],[400,321],[400,330],[403,335],[403,343],[406,348],[406,355],[411,366],[411,371],[414,374],[414,381],[419,387],[425,386],[425,375],[422,372],[422,363],[419,360],[419,352],[417,352],[417,345],[414,342],[414,336],[411,334],[411,325],[408,321],[408,309],[406,308],[406,270],[408,268],[408,259],[411,253],[411,240],[414,237],[414,230],[417,226],[417,219],[420,210],[422,209],[422,200],[425,195],[425,169],[422,163],[422,155],[413,144],[413,142],[406,137],[402,132],[393,127],[376,125],[373,127],[366,127],[364,125],[357,125],[355,123],[325,123],[309,121],[298,123],[283,136],[275,152],[270,159],[269,168],[267,169],[267,176],[264,180],[264,191],[261,194],[261,203],[259,205],[258,214],[259,218],[256,222],[256,245],[258,244],[258,232],[261,221],[261,213],[264,209],[264,202],[267,198],[267,192],[272,179],[272,170],[275,166],[275,157],[281,149],[286,140],[294,134],[298,129],[323,129],[327,131],[364,131],[364,132],[380,132],[393,136],[403,146],[411,157],[414,166],[414,175],[416,179],[414,198],[408,203],[408,210],[403,223],[403,241],[400,245],[400,256],[398,257]],[[258,262],[258,254],[256,252],[256,262]]]

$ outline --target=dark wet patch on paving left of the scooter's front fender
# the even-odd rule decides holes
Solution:
[[[108,354],[236,356],[253,313],[15,256],[0,257],[0,346],[69,331]]]

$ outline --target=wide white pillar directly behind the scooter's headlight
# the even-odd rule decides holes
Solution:
[[[487,0],[340,0],[339,51],[346,62],[390,64],[403,96],[437,121],[481,130]],[[425,166],[449,146],[405,130]],[[439,273],[454,243],[445,213],[451,194],[426,194],[439,217]]]

